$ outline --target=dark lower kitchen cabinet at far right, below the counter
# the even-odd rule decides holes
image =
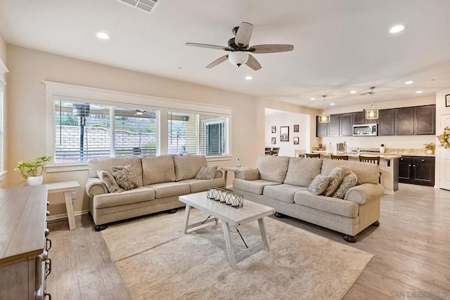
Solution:
[[[399,161],[399,182],[435,185],[435,157],[401,157]]]

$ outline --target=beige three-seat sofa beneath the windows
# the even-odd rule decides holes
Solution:
[[[136,174],[138,188],[108,193],[97,171],[111,172],[113,166],[131,164]],[[103,230],[108,223],[143,216],[158,211],[184,207],[179,195],[198,193],[207,188],[224,187],[221,171],[210,180],[195,179],[201,167],[207,167],[203,155],[157,157],[126,157],[94,159],[89,162],[89,178],[86,194],[96,230]]]

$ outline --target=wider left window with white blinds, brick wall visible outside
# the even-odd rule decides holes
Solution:
[[[56,164],[157,153],[155,110],[66,100],[54,105]]]

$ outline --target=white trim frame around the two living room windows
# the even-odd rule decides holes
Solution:
[[[167,122],[168,112],[175,110],[193,114],[219,115],[228,117],[229,126],[229,154],[209,156],[208,161],[231,160],[231,119],[232,108],[219,105],[206,105],[189,101],[174,100],[169,98],[158,98],[134,93],[96,89],[86,86],[72,84],[61,84],[54,81],[43,81],[46,93],[46,155],[53,156],[55,151],[55,112],[54,100],[67,100],[72,102],[94,103],[100,105],[112,105],[120,107],[136,107],[136,109],[151,109],[159,111],[159,122],[157,124],[157,138],[159,150],[156,155],[167,153]],[[79,171],[88,169],[87,162],[72,162],[65,164],[54,164],[53,160],[47,164],[46,171]]]

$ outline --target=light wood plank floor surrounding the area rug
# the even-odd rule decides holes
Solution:
[[[450,299],[450,191],[400,184],[383,197],[380,227],[364,230],[356,244],[332,230],[279,220],[374,254],[344,299]],[[48,292],[53,299],[129,299],[91,217],[76,221],[77,230],[67,221],[49,224]]]

